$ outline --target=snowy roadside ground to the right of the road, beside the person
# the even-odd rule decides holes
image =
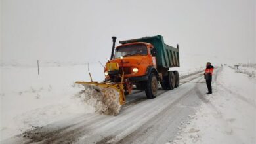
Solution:
[[[223,68],[213,94],[169,143],[256,143],[256,68],[239,69]]]

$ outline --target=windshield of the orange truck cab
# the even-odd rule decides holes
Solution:
[[[136,44],[136,45],[126,45],[119,46],[116,48],[115,58],[120,58],[121,56],[133,56],[133,55],[143,55],[148,54],[146,45]]]

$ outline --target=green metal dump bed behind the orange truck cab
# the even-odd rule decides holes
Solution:
[[[119,43],[121,44],[133,42],[151,43],[154,46],[154,48],[156,48],[156,63],[158,67],[170,68],[180,66],[179,47],[174,48],[172,46],[166,45],[161,35],[119,41]]]

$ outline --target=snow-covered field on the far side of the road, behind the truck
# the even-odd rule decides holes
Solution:
[[[1,139],[26,130],[51,124],[95,109],[80,98],[82,86],[75,81],[89,81],[87,62],[53,62],[37,60],[2,61]],[[104,72],[98,62],[90,62],[93,81],[102,81]],[[180,76],[202,71],[204,67],[181,67]]]

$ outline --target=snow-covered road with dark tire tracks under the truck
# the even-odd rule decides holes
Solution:
[[[219,72],[216,69],[214,77]],[[198,73],[182,79],[175,90],[159,90],[155,99],[146,99],[144,92],[129,96],[129,103],[117,116],[70,117],[1,143],[166,143],[206,100],[206,92],[205,80]]]

